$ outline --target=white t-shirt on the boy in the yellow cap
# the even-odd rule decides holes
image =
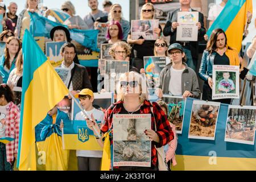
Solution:
[[[104,123],[104,113],[101,110],[93,108],[90,111],[86,111],[85,113],[88,115],[89,119],[90,115],[93,113],[93,117],[97,121],[101,121],[101,123]],[[84,120],[85,115],[80,111],[79,113],[76,114],[75,120]],[[88,157],[88,158],[102,158],[102,151],[93,151],[93,150],[77,150],[76,151],[76,156],[80,157]]]

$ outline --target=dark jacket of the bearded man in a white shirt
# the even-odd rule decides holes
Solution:
[[[75,64],[75,67],[71,71],[73,90],[91,89],[90,79],[85,67],[79,64]]]

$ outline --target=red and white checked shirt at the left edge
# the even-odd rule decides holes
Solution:
[[[19,118],[20,112],[18,106],[10,102],[6,107],[6,129],[5,137],[15,138],[15,140],[6,144],[7,162],[13,162],[14,154],[18,153],[19,142]]]

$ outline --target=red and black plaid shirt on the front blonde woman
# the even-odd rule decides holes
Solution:
[[[105,123],[101,126],[101,131],[106,133],[112,126],[113,114],[117,114],[121,111],[123,107],[123,102],[119,101],[111,105],[108,110],[105,112]],[[151,112],[151,107],[153,107],[154,116]],[[156,161],[158,160],[157,152],[154,147],[162,147],[174,139],[174,133],[172,132],[170,123],[166,117],[166,114],[161,109],[161,107],[153,102],[152,104],[145,100],[140,109],[141,114],[151,114],[151,129],[155,131],[155,122],[156,122],[156,134],[158,134],[159,143],[152,141],[151,144],[151,163],[155,166]],[[113,134],[113,129],[112,129]]]

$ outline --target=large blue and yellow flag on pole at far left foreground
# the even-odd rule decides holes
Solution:
[[[68,94],[68,89],[28,30],[23,38],[23,56],[17,168],[36,170],[35,126]]]

